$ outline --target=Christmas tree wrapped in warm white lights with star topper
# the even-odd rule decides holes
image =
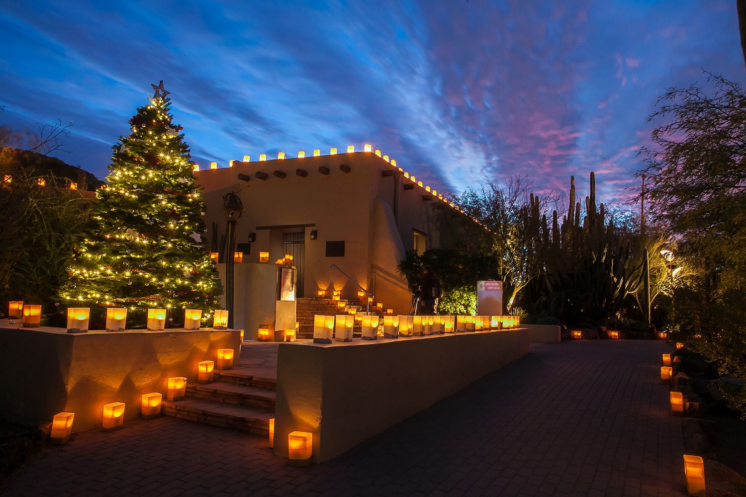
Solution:
[[[96,191],[94,224],[60,291],[70,307],[128,308],[128,327],[147,308],[166,308],[175,323],[184,309],[219,306],[222,285],[201,242],[201,187],[181,126],[172,123],[169,92],[155,95],[130,119],[132,133],[113,146],[107,185]]]

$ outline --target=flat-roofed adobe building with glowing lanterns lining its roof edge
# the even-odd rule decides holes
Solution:
[[[248,185],[239,193],[245,212],[236,226],[235,250],[243,254],[242,264],[259,263],[260,252],[269,252],[270,264],[292,254],[296,297],[318,297],[324,291],[330,298],[336,290],[342,299],[355,301],[360,285],[384,309],[409,314],[413,295],[398,264],[407,250],[452,247],[459,231],[454,221],[464,214],[394,160],[367,151],[369,145],[365,149],[314,151],[295,159],[262,156],[260,161],[231,161],[229,168],[213,162],[210,169],[195,171],[204,187],[208,247],[225,261],[223,197]],[[242,276],[248,274],[243,269],[248,268],[236,271],[236,285],[248,277]],[[247,326],[248,337],[256,335],[253,326]]]

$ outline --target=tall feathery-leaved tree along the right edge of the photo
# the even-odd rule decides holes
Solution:
[[[649,121],[642,150],[645,200],[688,262],[691,285],[676,288],[671,332],[746,382],[746,94],[721,75],[671,88]],[[727,392],[726,392],[727,393]],[[746,388],[727,393],[746,417]]]

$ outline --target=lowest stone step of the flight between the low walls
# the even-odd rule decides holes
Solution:
[[[189,397],[177,401],[164,400],[161,406],[160,412],[166,416],[264,437],[269,435],[269,419],[275,417],[274,411],[266,409]]]

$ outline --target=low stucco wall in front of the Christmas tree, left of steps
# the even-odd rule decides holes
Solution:
[[[75,413],[73,431],[101,424],[109,402],[125,402],[125,420],[140,416],[142,393],[166,398],[169,376],[197,376],[199,361],[234,349],[239,330],[126,330],[67,333],[60,328],[0,329],[0,419],[21,424]]]

